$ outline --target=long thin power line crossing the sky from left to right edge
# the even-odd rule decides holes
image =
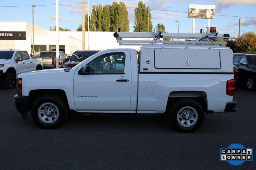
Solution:
[[[79,4],[82,4],[82,3],[71,3],[71,4],[59,4],[59,5],[62,5],[62,6],[71,6],[71,5],[79,5]],[[56,4],[45,4],[45,5],[35,5],[35,6],[55,6]],[[106,6],[105,4],[89,4],[90,6],[94,6],[94,5],[102,5],[102,6]],[[230,4],[231,5],[231,4]],[[23,6],[0,6],[0,8],[3,8],[3,7],[28,7],[28,6],[32,6],[32,5],[23,5]],[[126,8],[137,8],[137,7],[128,7],[126,6]],[[184,12],[184,11],[173,11],[173,10],[159,10],[159,9],[152,9],[150,8],[150,10],[153,10],[153,11],[162,11],[162,12],[177,12],[177,13],[186,13],[188,14],[188,12]],[[232,15],[221,15],[221,14],[215,14],[215,16],[224,16],[224,17],[236,17],[236,18],[253,18],[253,19],[256,19],[256,17],[247,17],[247,16],[232,16]]]

